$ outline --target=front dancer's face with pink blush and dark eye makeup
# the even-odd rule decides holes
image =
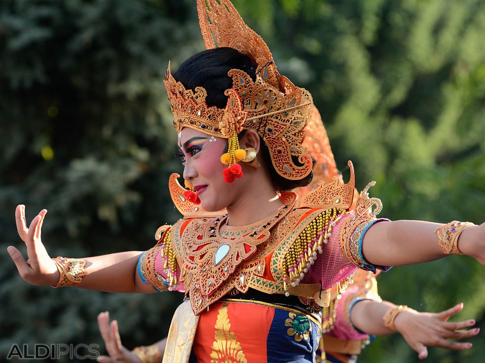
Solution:
[[[200,131],[184,127],[179,133],[178,148],[184,165],[183,177],[196,190],[201,206],[216,212],[229,206],[241,191],[241,179],[227,184],[220,157],[227,140],[211,137]]]

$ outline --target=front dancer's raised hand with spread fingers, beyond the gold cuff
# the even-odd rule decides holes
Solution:
[[[18,205],[15,209],[15,221],[19,236],[27,247],[28,260],[25,261],[20,251],[15,247],[9,246],[7,248],[20,276],[32,285],[56,285],[59,281],[59,271],[56,264],[47,254],[40,239],[42,222],[46,213],[47,210],[42,209],[27,228],[25,206]]]

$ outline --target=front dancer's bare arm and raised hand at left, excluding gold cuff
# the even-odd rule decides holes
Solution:
[[[13,246],[7,248],[20,276],[33,285],[52,285],[59,282],[60,273],[41,241],[41,228],[47,211],[43,209],[27,228],[25,206],[15,210],[17,231],[27,247],[28,260]],[[85,276],[75,286],[109,292],[155,292],[143,284],[136,271],[141,252],[122,252],[105,256],[86,257]]]

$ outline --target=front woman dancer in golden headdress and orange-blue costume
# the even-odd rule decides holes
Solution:
[[[143,254],[51,260],[40,240],[46,211],[27,228],[18,206],[28,263],[8,250],[26,281],[185,291],[165,361],[304,362],[315,358],[329,289],[338,283],[343,290],[357,268],[387,270],[457,253],[485,262],[485,225],[377,219],[380,201],[368,198],[370,185],[348,213],[351,163],[348,184],[319,185],[297,208],[285,191],[311,179],[302,148],[311,95],[279,75],[266,44],[227,0],[199,0],[198,9],[208,50],[165,74],[191,189],[170,181],[184,219],[159,228],[157,245]],[[398,312],[389,312],[390,324]]]

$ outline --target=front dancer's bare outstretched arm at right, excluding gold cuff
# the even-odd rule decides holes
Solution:
[[[447,256],[434,231],[439,223],[400,220],[374,223],[365,233],[362,254],[374,265],[401,266]],[[485,223],[470,225],[460,234],[458,249],[485,264]]]

